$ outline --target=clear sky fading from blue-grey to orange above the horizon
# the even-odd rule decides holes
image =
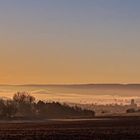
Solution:
[[[140,83],[139,0],[0,0],[0,84]]]

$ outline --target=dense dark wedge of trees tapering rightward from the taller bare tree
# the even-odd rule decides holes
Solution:
[[[58,102],[44,103],[39,101],[36,108],[39,110],[39,116],[43,118],[92,118],[95,115],[94,111],[83,110],[77,106],[70,107]]]

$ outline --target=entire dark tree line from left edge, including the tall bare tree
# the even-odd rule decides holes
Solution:
[[[0,99],[0,118],[94,117],[95,112],[58,102],[36,101],[28,92],[17,92],[12,99]]]

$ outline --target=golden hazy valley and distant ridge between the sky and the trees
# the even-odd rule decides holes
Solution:
[[[26,91],[37,100],[81,104],[140,104],[140,84],[1,85],[0,97]]]

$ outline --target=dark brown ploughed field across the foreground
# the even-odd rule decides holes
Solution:
[[[140,140],[140,117],[1,122],[0,140]]]

